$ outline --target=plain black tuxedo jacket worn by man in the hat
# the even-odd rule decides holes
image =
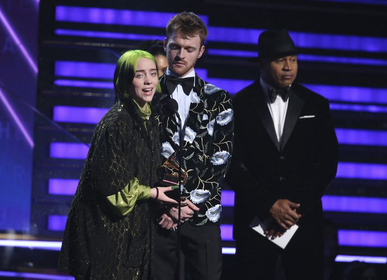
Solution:
[[[321,197],[336,175],[338,144],[328,100],[293,83],[281,144],[258,81],[233,98],[234,153],[226,180],[235,191],[234,238],[278,199],[300,203],[300,226],[322,219]]]

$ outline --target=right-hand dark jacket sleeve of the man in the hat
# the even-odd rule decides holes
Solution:
[[[312,168],[299,186],[294,186],[292,198],[301,204],[300,212],[307,213],[320,204],[326,187],[336,175],[338,143],[329,112],[329,102],[323,100],[321,122],[316,128],[316,145],[313,149]]]

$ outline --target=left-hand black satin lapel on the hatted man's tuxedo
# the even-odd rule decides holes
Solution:
[[[271,118],[269,108],[267,107],[267,102],[266,102],[262,87],[260,86],[259,81],[256,81],[255,84],[256,84],[257,90],[254,90],[254,94],[257,96],[256,98],[257,108],[254,108],[253,110],[258,111],[258,116],[260,121],[263,124],[263,127],[265,128],[270,139],[273,141],[273,144],[279,150],[280,146],[277,139],[277,134],[275,133],[273,119]]]

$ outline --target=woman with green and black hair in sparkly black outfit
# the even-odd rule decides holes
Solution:
[[[75,279],[152,279],[160,165],[158,124],[149,102],[160,91],[151,54],[124,53],[114,73],[117,102],[98,123],[71,203],[59,268]]]

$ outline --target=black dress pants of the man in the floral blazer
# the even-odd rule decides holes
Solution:
[[[154,238],[154,280],[174,280],[177,264],[177,231],[157,227]],[[192,280],[220,280],[222,244],[218,225],[181,227],[181,253]]]

